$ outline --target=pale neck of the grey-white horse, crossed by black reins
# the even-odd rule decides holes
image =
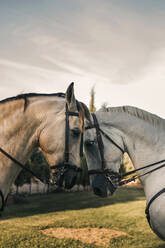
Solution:
[[[129,123],[129,125],[131,124],[133,123]],[[124,141],[135,169],[165,159],[165,135],[164,130],[159,127],[154,127],[142,120],[134,121],[131,132],[129,132],[128,126],[126,128]],[[137,175],[143,175],[162,164],[142,169],[137,172]],[[139,177],[144,187],[147,202],[165,187],[164,177],[165,167]]]

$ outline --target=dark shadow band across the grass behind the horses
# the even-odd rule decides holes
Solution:
[[[7,206],[2,219],[25,217],[50,212],[80,210],[85,208],[99,208],[119,202],[144,200],[142,188],[120,188],[113,196],[100,198],[92,192],[64,192],[31,195],[26,202]]]

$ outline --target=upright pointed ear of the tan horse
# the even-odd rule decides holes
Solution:
[[[74,83],[71,83],[65,94],[66,102],[68,104],[68,108],[70,111],[76,111],[77,110],[77,105],[76,105],[76,98],[74,95]]]

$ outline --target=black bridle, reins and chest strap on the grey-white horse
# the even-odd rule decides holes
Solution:
[[[122,186],[122,185],[125,185],[129,182],[132,182],[132,181],[135,181],[135,179],[137,178],[140,178],[140,177],[143,177],[147,174],[150,174],[158,169],[161,169],[163,167],[165,167],[165,164],[162,164],[165,162],[165,159],[163,160],[160,160],[158,162],[154,162],[152,164],[148,164],[146,166],[143,166],[139,169],[135,169],[135,170],[132,170],[132,171],[129,171],[127,173],[124,173],[124,174],[120,174],[120,173],[117,173],[117,172],[114,172],[112,171],[111,169],[108,169],[106,167],[106,161],[104,159],[104,143],[103,143],[103,140],[102,140],[102,136],[101,134],[106,138],[108,139],[112,144],[114,144],[114,146],[116,146],[123,154],[125,153],[125,150],[123,148],[121,148],[121,146],[119,146],[111,137],[109,137],[109,135],[107,135],[99,126],[99,123],[98,123],[98,120],[97,120],[97,117],[95,114],[92,114],[92,117],[93,117],[93,122],[94,122],[94,125],[92,126],[88,126],[86,127],[85,129],[91,129],[91,128],[95,128],[96,129],[96,138],[97,138],[97,144],[98,144],[98,149],[99,149],[99,152],[100,152],[100,157],[101,157],[101,169],[97,169],[97,170],[89,170],[88,171],[88,174],[89,175],[94,175],[94,174],[103,174],[107,180],[107,182],[111,183],[114,187],[116,187],[116,184],[114,183],[114,181],[116,182],[117,181],[117,184],[118,186]],[[141,174],[139,176],[135,175],[135,176],[132,176],[130,179],[124,179],[125,177],[129,176],[129,175],[132,175],[134,173],[136,173],[137,171],[140,171],[140,170],[143,170],[143,169],[147,169],[147,168],[150,168],[154,165],[157,165],[157,164],[161,164],[160,166],[150,170],[150,171],[147,171],[145,172],[144,174]],[[163,188],[162,190],[160,190],[158,193],[156,193],[151,199],[150,201],[148,202],[147,206],[146,206],[146,210],[145,210],[145,213],[146,213],[146,217],[147,217],[147,220],[150,224],[150,214],[149,214],[149,209],[150,209],[150,206],[152,204],[152,202],[157,199],[161,194],[165,193],[165,188]]]

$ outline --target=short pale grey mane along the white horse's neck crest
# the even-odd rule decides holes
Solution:
[[[104,107],[101,108],[99,111],[101,112],[111,112],[111,113],[127,113],[129,115],[132,115],[138,119],[144,120],[154,127],[161,127],[165,129],[165,120],[155,114],[151,114],[150,112],[147,112],[146,110],[139,109],[137,107],[133,106],[121,106],[121,107]]]

